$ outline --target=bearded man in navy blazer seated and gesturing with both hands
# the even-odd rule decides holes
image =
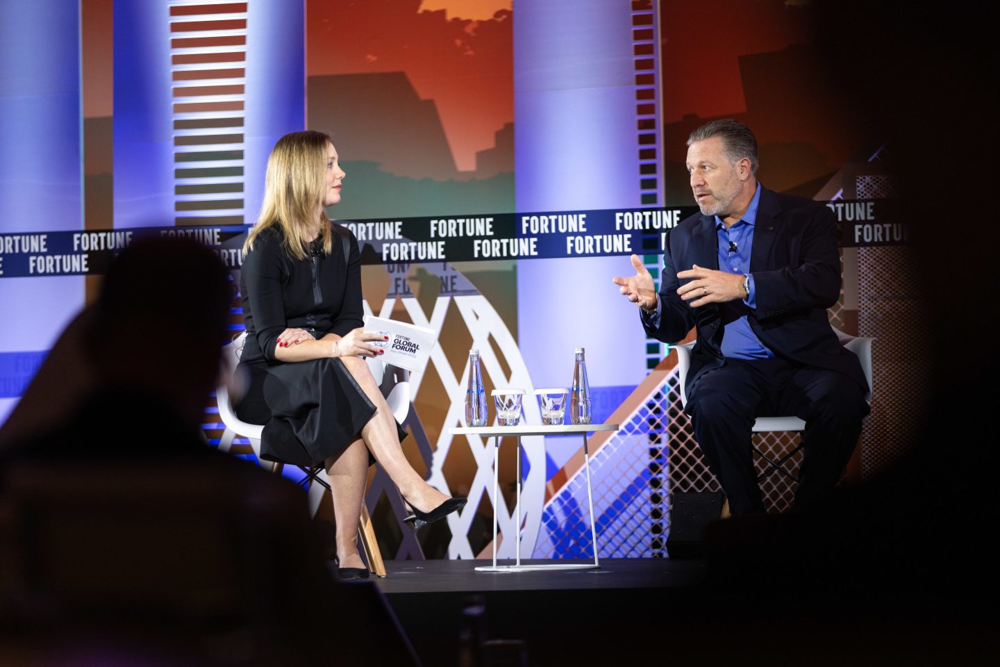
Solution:
[[[701,213],[667,234],[659,293],[635,255],[636,275],[614,282],[650,336],[696,328],[686,412],[731,512],[763,511],[750,429],[788,414],[806,422],[795,507],[807,508],[836,485],[868,412],[861,364],[826,314],[840,293],[833,213],[761,186],[742,123],[712,121],[687,143]]]

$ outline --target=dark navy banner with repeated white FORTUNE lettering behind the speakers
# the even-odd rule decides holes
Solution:
[[[902,245],[909,232],[894,221],[892,200],[837,201],[843,247]],[[667,230],[697,207],[544,211],[396,220],[339,220],[358,239],[361,263],[475,262],[658,253]],[[0,277],[103,273],[134,239],[184,236],[218,249],[230,268],[243,263],[247,227],[142,227],[87,232],[0,234]]]

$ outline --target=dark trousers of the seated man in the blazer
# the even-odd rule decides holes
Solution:
[[[685,409],[705,460],[734,515],[763,511],[753,465],[756,417],[795,415],[805,420],[805,454],[795,509],[813,506],[840,479],[858,442],[868,405],[858,383],[837,371],[784,359],[727,359],[704,373]]]

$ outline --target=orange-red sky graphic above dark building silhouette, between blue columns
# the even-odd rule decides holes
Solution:
[[[421,6],[441,6],[437,11]],[[456,18],[459,0],[316,2],[306,5],[308,76],[405,72],[417,94],[437,105],[455,163],[476,168],[476,152],[514,120],[513,29],[498,18]],[[447,11],[446,11],[447,10]]]

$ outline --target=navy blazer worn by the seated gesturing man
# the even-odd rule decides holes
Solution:
[[[836,223],[827,206],[761,186],[750,251],[756,309],[747,308],[742,301],[729,305],[728,310],[715,303],[691,308],[677,294],[682,284],[677,272],[694,264],[719,268],[714,216],[696,213],[667,233],[659,326],[650,326],[642,317],[646,333],[666,343],[683,339],[697,327],[685,387],[689,396],[705,371],[725,363],[722,319],[724,314],[732,317],[734,308],[747,315],[750,328],[775,355],[844,373],[868,390],[861,363],[837,340],[826,313],[840,295]]]

